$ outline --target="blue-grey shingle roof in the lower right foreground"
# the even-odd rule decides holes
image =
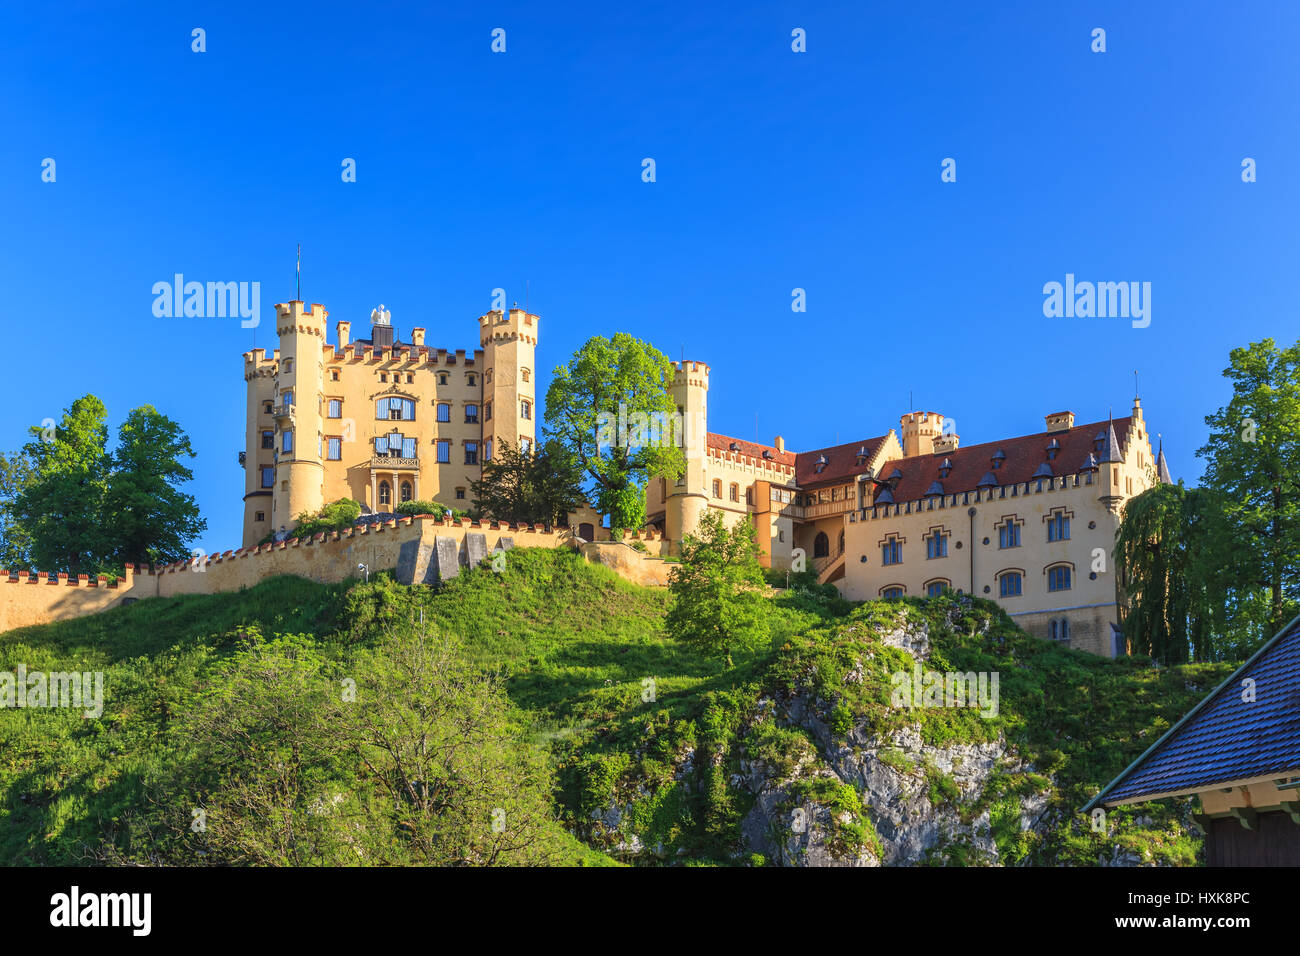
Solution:
[[[1243,700],[1247,679],[1254,682],[1253,701]],[[1297,774],[1300,618],[1260,648],[1084,809]]]

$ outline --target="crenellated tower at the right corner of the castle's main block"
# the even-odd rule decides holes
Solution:
[[[478,342],[484,349],[484,453],[500,442],[512,449],[537,441],[537,349],[540,319],[523,308],[478,316]]]

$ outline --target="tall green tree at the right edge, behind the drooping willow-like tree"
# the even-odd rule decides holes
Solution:
[[[1273,632],[1300,598],[1300,342],[1279,349],[1266,338],[1234,349],[1230,363],[1232,397],[1205,418],[1210,437],[1197,455],[1235,542],[1226,570],[1243,594],[1268,589],[1256,623]]]

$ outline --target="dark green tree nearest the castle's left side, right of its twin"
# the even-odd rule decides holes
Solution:
[[[177,485],[194,473],[190,437],[152,405],[131,410],[117,432],[101,524],[114,563],[165,564],[190,557],[190,544],[208,527],[194,497]]]

